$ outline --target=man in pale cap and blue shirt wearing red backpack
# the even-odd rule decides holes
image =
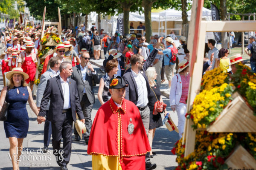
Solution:
[[[159,40],[162,41],[163,37],[161,37]],[[173,57],[177,55],[178,50],[175,46],[174,40],[171,37],[167,37],[164,40],[166,40],[166,49],[163,51],[158,51],[158,54],[163,54],[165,73],[170,89],[172,84],[172,75],[174,74],[173,69],[176,63],[176,61],[173,60]],[[156,48],[158,47],[159,45],[156,46]]]

